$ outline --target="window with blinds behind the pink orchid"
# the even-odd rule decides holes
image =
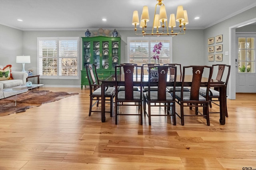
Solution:
[[[154,63],[152,59],[153,47],[161,42],[163,44],[160,53],[159,64],[172,63],[172,37],[128,37],[128,63],[142,65]]]

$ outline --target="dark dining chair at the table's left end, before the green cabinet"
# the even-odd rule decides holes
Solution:
[[[89,116],[92,112],[101,112],[98,110],[92,110],[92,107],[96,105],[99,106],[101,100],[101,85],[98,78],[98,73],[95,64],[86,64],[86,73],[89,81],[90,86],[90,110]],[[94,76],[95,75],[95,76]],[[113,101],[115,97],[115,90],[114,87],[106,87],[105,89],[105,100],[110,101],[110,117],[113,115]],[[109,98],[109,99],[106,99]],[[109,112],[109,111],[106,111]]]

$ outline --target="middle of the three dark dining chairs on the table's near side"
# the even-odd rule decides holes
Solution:
[[[148,123],[151,125],[151,116],[170,116],[173,117],[173,125],[176,125],[176,114],[175,114],[175,86],[176,86],[176,66],[149,66],[149,74],[152,68],[157,68],[158,70],[158,80],[148,79],[148,91],[143,93],[143,108],[144,114],[148,116]],[[174,73],[174,78],[167,78],[170,72]],[[154,84],[154,82],[157,84]],[[168,82],[173,82],[174,91],[172,94],[166,91],[166,86]],[[156,91],[152,91],[151,88],[158,86]],[[147,104],[147,105],[146,105]],[[146,106],[148,106],[148,111],[146,111]],[[164,113],[156,113],[152,111],[152,107],[164,107],[167,108]],[[171,109],[172,108],[172,109]]]

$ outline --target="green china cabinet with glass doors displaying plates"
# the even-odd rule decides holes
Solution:
[[[120,37],[82,37],[81,89],[89,85],[86,64],[95,64],[99,80],[115,73],[120,64]]]

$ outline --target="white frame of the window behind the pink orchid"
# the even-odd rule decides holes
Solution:
[[[160,41],[170,41],[170,54],[169,54],[169,59],[170,59],[170,63],[172,63],[172,37],[167,37],[167,36],[159,36],[159,37],[127,37],[127,63],[130,62],[130,42],[131,41],[148,41],[148,63],[151,62],[151,56],[153,55],[152,53],[152,49],[151,47],[153,47],[154,45],[151,45],[151,43],[153,42],[154,44],[156,42],[160,42]]]

